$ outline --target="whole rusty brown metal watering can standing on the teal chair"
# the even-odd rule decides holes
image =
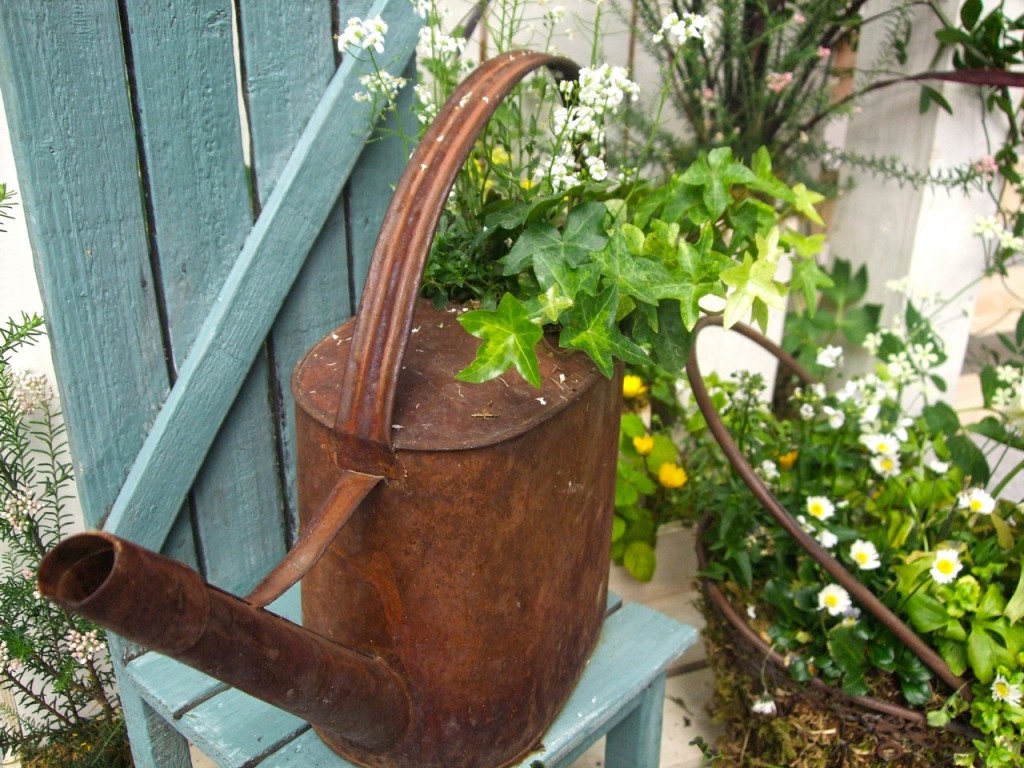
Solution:
[[[620,376],[552,343],[544,385],[455,374],[476,342],[418,299],[449,190],[502,98],[563,58],[509,53],[440,111],[385,215],[357,316],[297,367],[301,536],[246,599],[104,532],[56,547],[44,595],[312,723],[347,760],[518,762],[601,628]],[[302,580],[304,627],[265,610]]]

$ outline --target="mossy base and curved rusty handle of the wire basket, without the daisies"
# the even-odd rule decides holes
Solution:
[[[721,326],[721,318],[701,321],[697,331],[709,326]],[[814,378],[777,344],[743,326],[734,326],[731,330],[771,353],[800,384],[814,383]],[[696,343],[691,349],[687,375],[694,400],[732,471],[743,480],[778,527],[847,590],[860,608],[873,615],[912,651],[935,678],[948,686],[949,692],[965,690],[966,681],[954,675],[934,649],[815,541],[775,498],[718,413],[696,361]],[[703,536],[711,521],[712,518],[706,516],[698,527],[697,558],[701,570],[711,562]],[[904,706],[895,696],[894,700],[885,700],[869,695],[850,695],[818,677],[798,682],[788,670],[793,657],[779,653],[752,625],[746,611],[737,607],[729,583],[703,579],[701,586],[709,658],[717,677],[722,679],[719,703],[724,709],[726,730],[733,741],[725,751],[726,757],[733,761],[728,764],[919,768],[953,765],[957,753],[970,750],[971,738],[977,732],[958,720],[951,721],[945,728],[935,728],[927,723],[924,712]],[[759,694],[764,694],[766,703],[770,702],[770,712],[762,710],[763,714],[777,715],[794,726],[794,732],[799,734],[796,740],[802,742],[794,749],[800,754],[786,752],[785,738],[776,739],[780,731],[768,724],[768,720],[758,723],[756,719],[762,715],[757,714],[757,707],[752,712],[752,706],[762,698]],[[758,754],[762,750],[765,751],[763,757]]]

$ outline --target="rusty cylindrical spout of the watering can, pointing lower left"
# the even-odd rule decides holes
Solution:
[[[383,660],[206,584],[191,568],[105,532],[57,545],[40,592],[132,642],[176,658],[369,750],[409,724],[406,685]]]

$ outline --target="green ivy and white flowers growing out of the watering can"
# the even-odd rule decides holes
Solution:
[[[441,4],[425,0],[417,8],[425,26],[416,98],[428,123],[470,65],[465,39],[443,29]],[[485,17],[495,22],[490,52],[550,43],[564,11],[542,8],[529,18],[528,10],[526,3],[504,3]],[[595,13],[588,24],[600,30],[600,5]],[[386,45],[381,25],[350,19],[341,47],[379,55]],[[680,55],[699,45],[703,25],[696,14],[677,19],[670,36]],[[524,40],[529,26],[537,37]],[[583,350],[605,375],[615,360],[678,375],[690,333],[709,308],[724,311],[727,324],[763,325],[769,307],[784,305],[787,290],[813,293],[823,280],[814,261],[821,239],[796,225],[820,222],[819,195],[783,183],[764,150],[746,163],[719,147],[666,175],[616,166],[610,136],[639,87],[622,68],[590,65],[577,81],[534,77],[507,99],[450,196],[423,284],[435,305],[470,308],[459,322],[482,344],[459,375],[465,381],[514,369],[537,384],[536,347],[545,328],[558,329],[562,347]],[[403,84],[370,77],[359,97],[391,109]],[[649,144],[632,140],[641,155]],[[788,286],[775,276],[783,254],[795,262]]]

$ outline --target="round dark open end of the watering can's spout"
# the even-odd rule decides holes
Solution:
[[[39,591],[69,606],[88,600],[114,570],[117,551],[104,537],[85,534],[58,544],[40,564]]]

